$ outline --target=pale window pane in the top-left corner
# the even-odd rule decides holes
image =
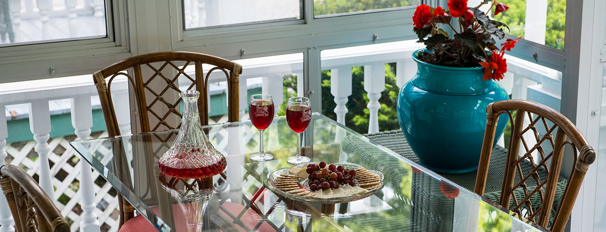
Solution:
[[[106,36],[105,1],[0,1],[0,47]]]

